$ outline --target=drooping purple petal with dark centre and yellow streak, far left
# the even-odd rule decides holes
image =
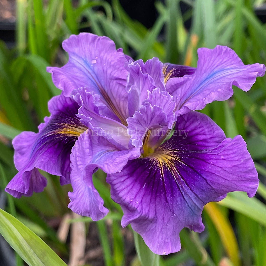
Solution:
[[[77,119],[78,105],[70,97],[55,96],[48,105],[52,114],[40,124],[39,132],[22,132],[13,140],[19,172],[6,191],[15,197],[43,191],[47,181],[37,168],[60,176],[61,185],[70,182],[71,149],[87,127]]]

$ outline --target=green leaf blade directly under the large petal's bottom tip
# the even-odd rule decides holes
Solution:
[[[135,248],[139,257],[139,260],[142,264],[142,266],[159,266],[160,265],[160,256],[157,254],[154,254],[145,244],[142,237],[135,231],[134,233],[134,242],[135,242]]]

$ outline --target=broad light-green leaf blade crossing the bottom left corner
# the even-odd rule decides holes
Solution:
[[[1,209],[0,233],[29,266],[66,266],[39,236]]]

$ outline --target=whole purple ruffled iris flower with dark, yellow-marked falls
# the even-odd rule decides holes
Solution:
[[[133,61],[89,33],[70,36],[63,48],[68,63],[47,69],[62,94],[49,101],[38,133],[13,140],[19,172],[8,193],[43,191],[41,169],[71,183],[69,208],[97,221],[108,212],[92,182],[100,168],[123,209],[122,226],[131,223],[157,254],[180,250],[182,228],[204,230],[206,203],[231,191],[255,195],[259,179],[243,138],[226,138],[195,110],[229,99],[232,85],[248,91],[264,65],[244,65],[225,46],[198,49],[197,68]]]

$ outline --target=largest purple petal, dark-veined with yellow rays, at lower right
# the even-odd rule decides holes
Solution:
[[[253,196],[257,172],[241,136],[226,139],[206,115],[190,112],[177,120],[176,134],[155,152],[107,175],[111,197],[157,254],[180,250],[179,232],[204,230],[203,206],[231,191]]]

